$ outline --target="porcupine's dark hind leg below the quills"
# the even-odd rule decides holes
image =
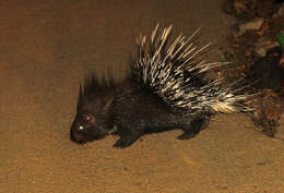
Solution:
[[[196,118],[189,123],[182,123],[181,130],[184,133],[177,138],[188,140],[194,137],[201,130],[209,125],[210,118]]]

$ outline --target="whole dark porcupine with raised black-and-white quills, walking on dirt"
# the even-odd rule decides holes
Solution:
[[[107,135],[119,135],[114,147],[130,146],[142,135],[181,129],[179,140],[196,136],[217,112],[248,111],[247,95],[236,94],[222,79],[206,74],[224,62],[200,60],[193,36],[180,34],[169,45],[171,25],[158,25],[150,40],[140,35],[138,55],[130,73],[120,83],[99,81],[93,73],[80,84],[76,116],[70,138],[83,144]]]

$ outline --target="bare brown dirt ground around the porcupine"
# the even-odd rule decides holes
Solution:
[[[140,32],[174,24],[226,49],[233,19],[220,0],[50,0],[0,2],[0,192],[284,192],[284,142],[258,132],[248,114],[220,114],[196,138],[146,135],[125,149],[117,137],[71,143],[79,82],[111,65],[123,74]],[[284,118],[279,128],[284,130]]]

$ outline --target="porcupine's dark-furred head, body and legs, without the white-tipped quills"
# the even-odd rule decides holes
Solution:
[[[110,134],[120,138],[114,147],[127,147],[142,135],[181,129],[179,140],[196,136],[209,123],[208,114],[187,114],[168,107],[135,79],[100,83],[93,75],[80,88],[76,116],[70,130],[73,142],[83,144]]]

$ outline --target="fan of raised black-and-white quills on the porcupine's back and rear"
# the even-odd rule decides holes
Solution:
[[[151,88],[165,102],[176,109],[191,112],[239,112],[251,110],[246,100],[248,95],[237,95],[223,79],[209,81],[206,73],[213,68],[230,62],[206,62],[202,51],[210,44],[198,48],[192,38],[180,34],[170,45],[171,25],[158,33],[158,24],[147,43],[146,36],[137,39],[137,61],[131,65],[132,75],[145,87]]]

